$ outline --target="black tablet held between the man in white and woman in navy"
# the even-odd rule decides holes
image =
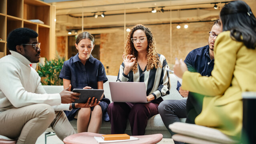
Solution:
[[[79,99],[75,99],[73,103],[86,103],[88,98],[92,99],[93,97],[97,98],[97,102],[99,102],[104,90],[74,88],[72,92],[80,93]]]

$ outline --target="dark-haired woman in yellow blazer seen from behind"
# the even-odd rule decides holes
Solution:
[[[220,18],[224,32],[215,41],[212,76],[189,72],[182,60],[173,69],[182,89],[206,95],[195,123],[240,139],[242,92],[256,91],[256,18],[243,1],[226,4]]]

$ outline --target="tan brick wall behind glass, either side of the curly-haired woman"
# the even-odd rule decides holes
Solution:
[[[195,49],[208,44],[208,32],[213,22],[189,23],[187,29],[177,29],[177,24],[172,25],[172,47],[170,47],[170,24],[147,26],[155,37],[157,52],[163,54],[172,66],[175,57],[185,59],[187,54]],[[128,32],[126,32],[126,36]],[[101,34],[100,60],[105,66],[108,75],[117,75],[124,48],[123,30],[120,32]],[[108,68],[107,68],[108,66]]]

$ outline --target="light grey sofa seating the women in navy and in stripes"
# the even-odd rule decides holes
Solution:
[[[180,100],[182,96],[176,90],[177,87],[177,79],[173,74],[170,74],[171,81],[171,89],[170,94],[167,96],[163,96],[164,100]],[[117,80],[117,76],[107,76],[108,81],[104,83],[104,94],[106,98],[111,100],[111,94],[109,90],[109,82],[115,82]],[[63,86],[43,86],[47,93],[59,93],[63,90]],[[181,122],[185,122],[185,118],[181,118]],[[72,120],[71,125],[77,130],[77,120]],[[131,128],[129,121],[127,122],[127,128],[125,133],[131,135]],[[102,122],[100,134],[111,134],[111,124],[110,122]],[[171,138],[171,134],[168,132],[167,128],[165,128],[161,116],[159,114],[152,116],[149,118],[147,122],[146,132],[145,134],[163,134],[163,138]]]

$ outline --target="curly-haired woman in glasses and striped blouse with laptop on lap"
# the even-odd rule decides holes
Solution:
[[[117,80],[120,82],[145,82],[148,103],[113,102],[107,112],[111,122],[111,134],[125,132],[127,118],[132,135],[144,135],[147,120],[158,114],[161,96],[169,94],[169,73],[165,57],[157,54],[153,34],[145,26],[134,26],[125,42],[123,63]]]

